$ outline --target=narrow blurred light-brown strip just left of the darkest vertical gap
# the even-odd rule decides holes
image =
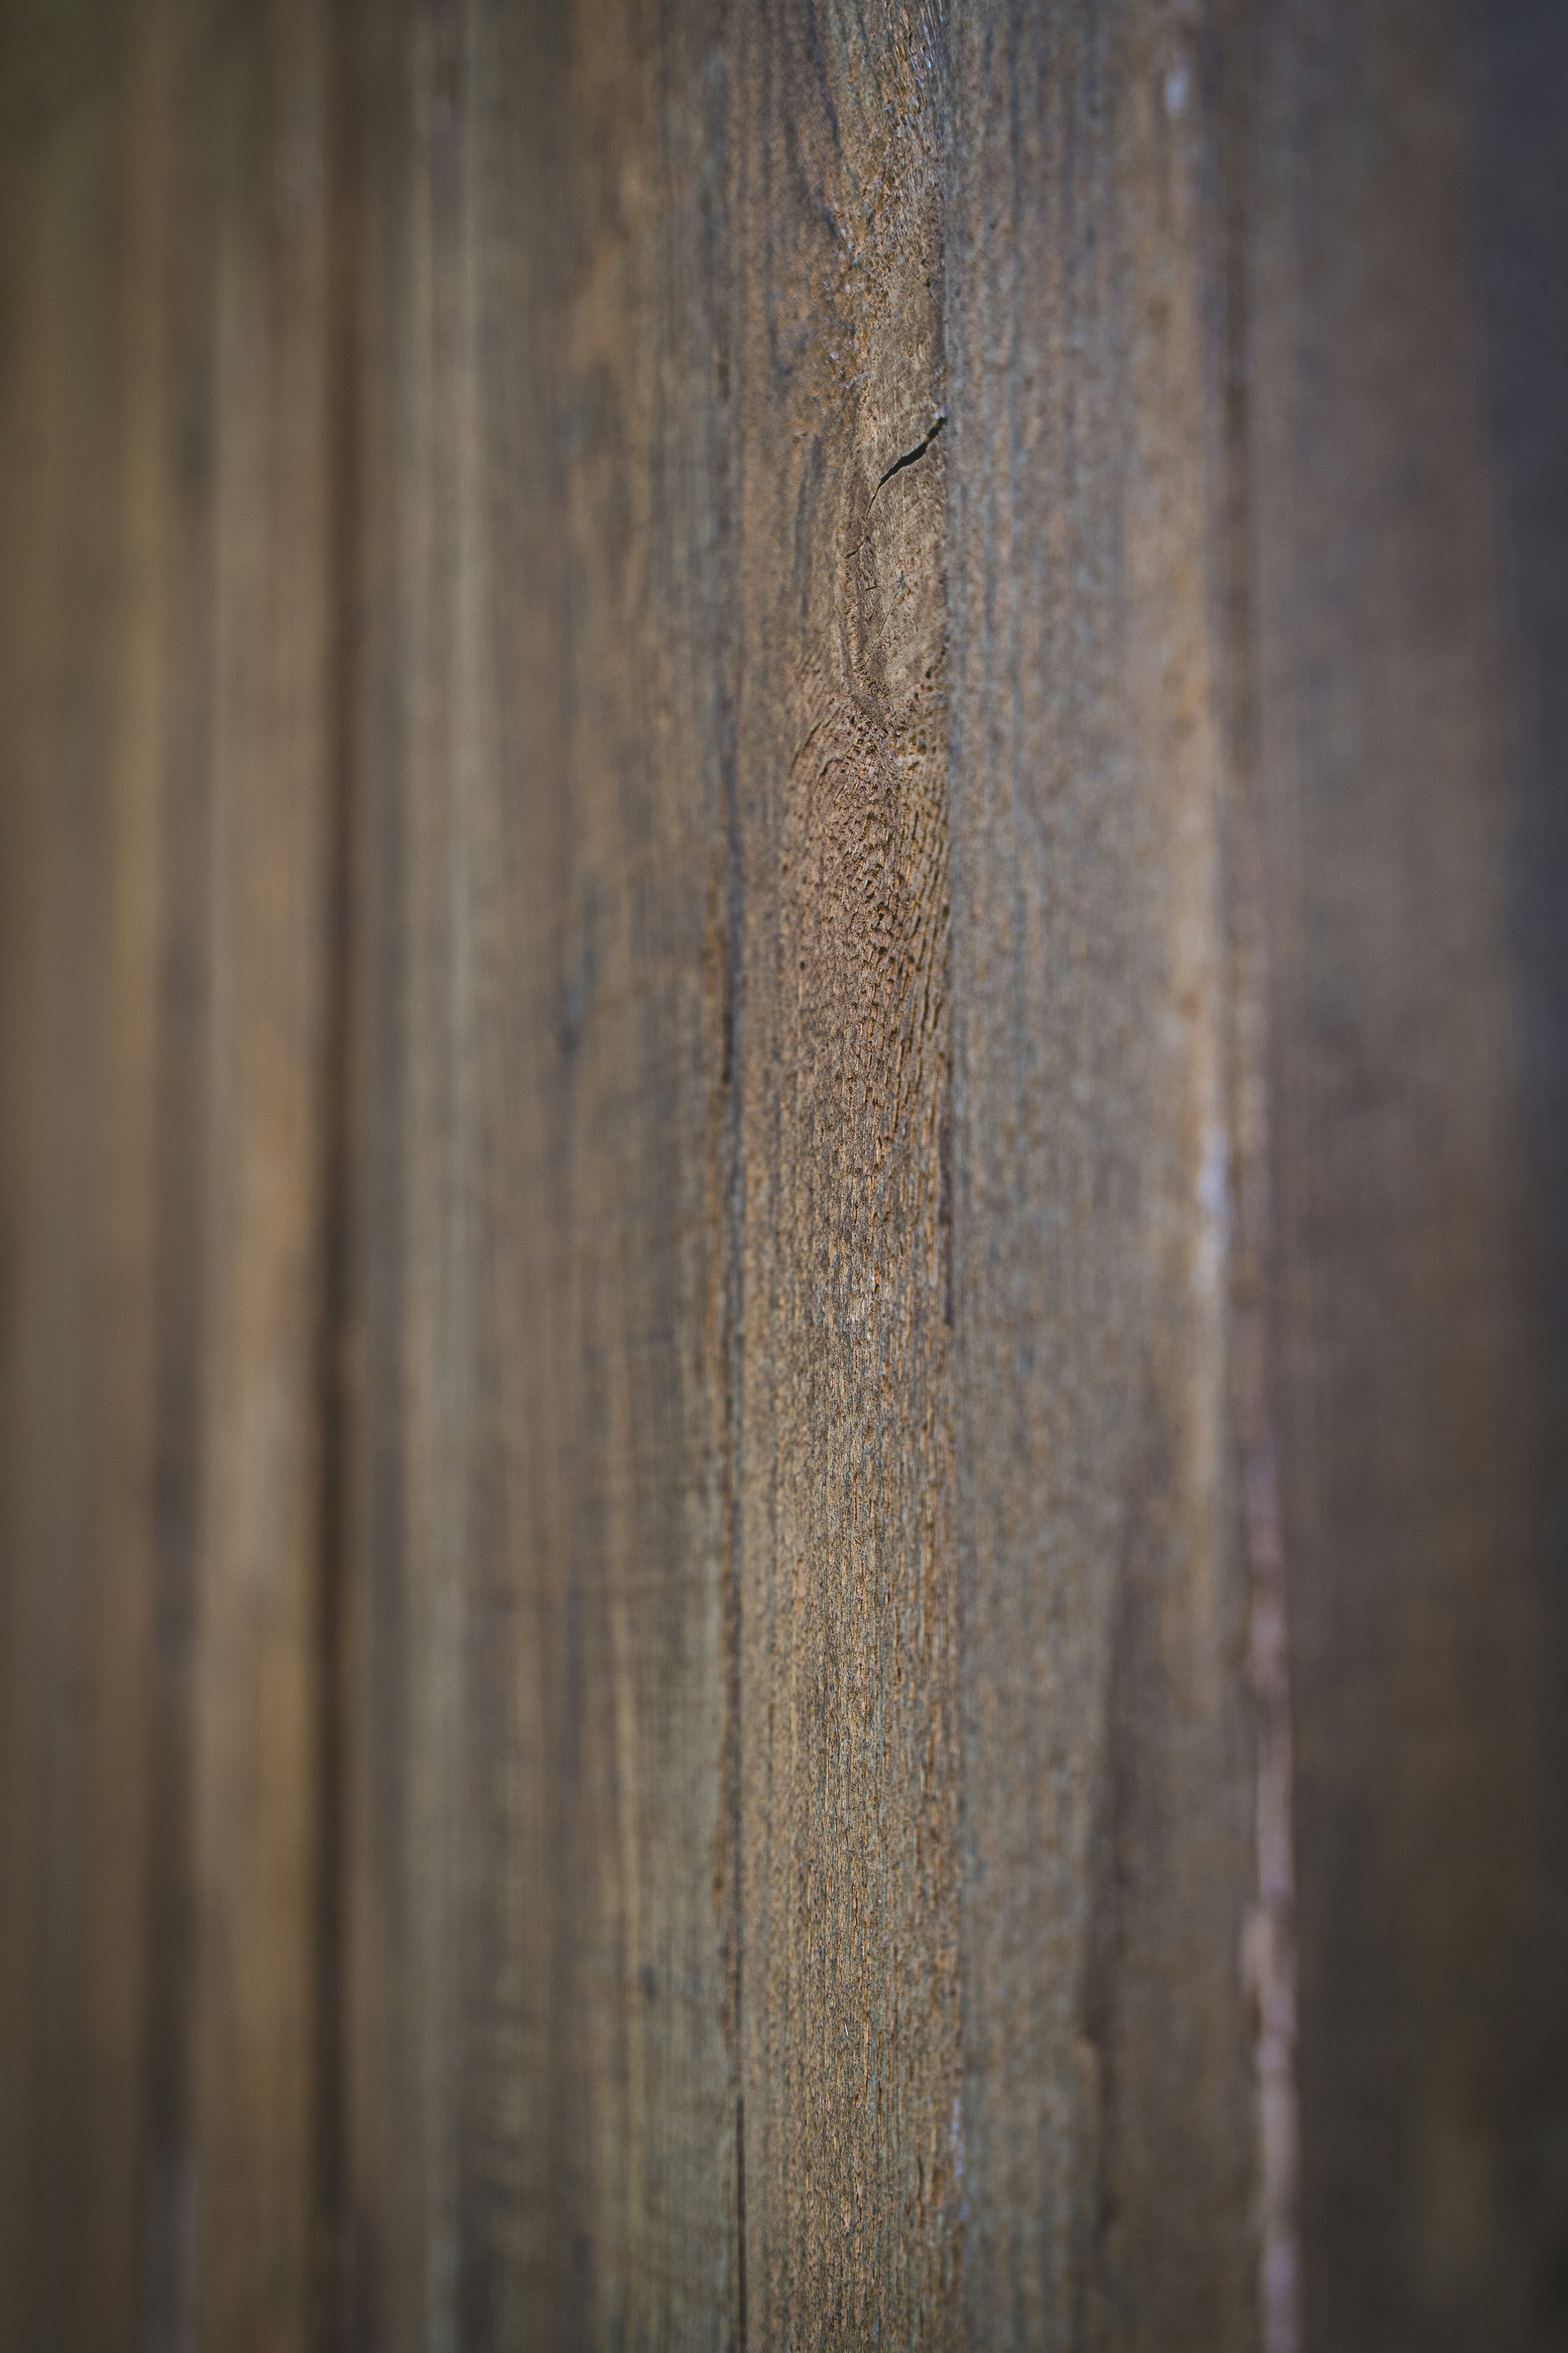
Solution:
[[[202,1461],[193,1687],[195,2337],[313,2322],[322,1101],[331,859],[324,28],[275,0],[216,158]]]

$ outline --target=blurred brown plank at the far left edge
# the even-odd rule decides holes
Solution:
[[[103,33],[49,54],[16,12],[2,52],[0,2341],[108,2348],[148,1854],[160,353],[129,289],[160,165]]]

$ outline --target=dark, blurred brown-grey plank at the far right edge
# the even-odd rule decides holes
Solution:
[[[1563,40],[1552,9],[1288,0],[1255,40],[1307,2344],[1547,2346],[1568,2308],[1563,725],[1540,652]]]

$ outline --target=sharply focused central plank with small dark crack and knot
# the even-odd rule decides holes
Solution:
[[[731,33],[745,2327],[957,2327],[940,31]]]

